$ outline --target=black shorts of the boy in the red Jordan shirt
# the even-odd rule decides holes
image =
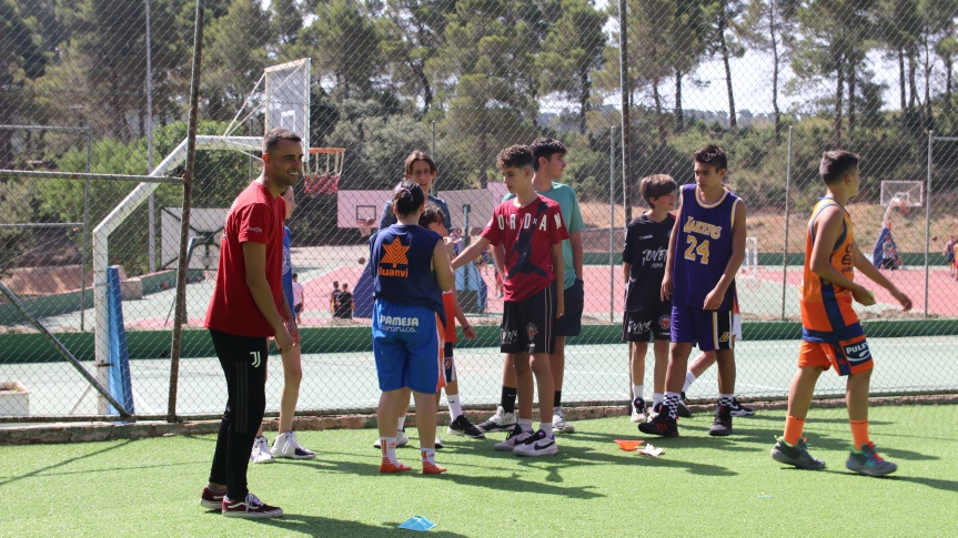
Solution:
[[[522,301],[503,303],[502,353],[555,351],[555,283]]]

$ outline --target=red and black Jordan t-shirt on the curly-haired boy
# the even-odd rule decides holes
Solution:
[[[522,301],[552,284],[552,245],[568,238],[557,203],[537,195],[516,207],[516,200],[501,203],[482,232],[490,243],[505,248],[504,301]]]

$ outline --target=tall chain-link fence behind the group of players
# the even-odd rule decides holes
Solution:
[[[743,396],[787,392],[806,222],[824,193],[818,160],[834,148],[863,156],[861,193],[849,205],[857,243],[915,302],[901,313],[879,291],[877,305],[859,308],[881,362],[876,392],[958,389],[946,361],[958,334],[958,283],[946,257],[958,234],[954,2],[205,0],[196,8],[0,1],[0,276],[11,293],[0,300],[0,398],[29,399],[29,408],[0,402],[0,415],[102,413],[89,376],[41,328],[88,372],[110,366],[97,341],[117,331],[107,328],[105,303],[94,304],[107,266],[120,267],[137,413],[165,414],[171,394],[179,415],[220,410],[224,384],[202,321],[223,217],[259,174],[259,139],[270,126],[294,129],[316,149],[288,221],[304,286],[303,409],[363,409],[377,398],[365,245],[406,155],[434,156],[435,194],[468,241],[505,192],[496,153],[542,135],[568,146],[562,181],[576,190],[584,221],[584,329],[569,339],[566,402],[628,398],[621,252],[625,224],[645,210],[638,180],[668,173],[690,182],[690,155],[706,143],[728,153],[728,187],[748,207],[738,278]],[[199,134],[182,235],[181,182],[107,176],[183,174],[194,68]],[[185,332],[171,348],[181,237]],[[355,312],[334,283],[349,285]],[[461,270],[457,288],[480,327],[478,341],[457,349],[464,402],[490,405],[502,364],[492,264]],[[183,357],[174,368],[171,354]],[[279,407],[278,372],[269,410]],[[714,388],[703,382],[690,396]],[[841,392],[837,380],[823,389]]]

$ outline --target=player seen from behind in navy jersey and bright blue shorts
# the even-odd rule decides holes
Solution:
[[[405,389],[413,392],[416,402],[423,474],[446,470],[435,464],[435,394],[443,387],[442,293],[452,290],[455,277],[442,236],[419,225],[424,204],[423,190],[403,181],[393,191],[399,223],[370,237],[376,297],[373,354],[383,392],[376,412],[383,455],[380,473],[410,470],[396,460],[396,420],[409,405]]]

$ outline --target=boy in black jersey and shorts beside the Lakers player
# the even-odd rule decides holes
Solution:
[[[668,236],[675,227],[675,193],[678,184],[670,175],[655,174],[638,182],[642,197],[652,207],[629,223],[622,251],[625,277],[625,314],[622,339],[628,343],[632,378],[632,422],[644,423],[648,409],[645,390],[645,354],[653,341],[655,355],[653,407],[665,402],[665,372],[668,367],[668,341],[672,326],[672,302],[662,298],[662,277]]]

